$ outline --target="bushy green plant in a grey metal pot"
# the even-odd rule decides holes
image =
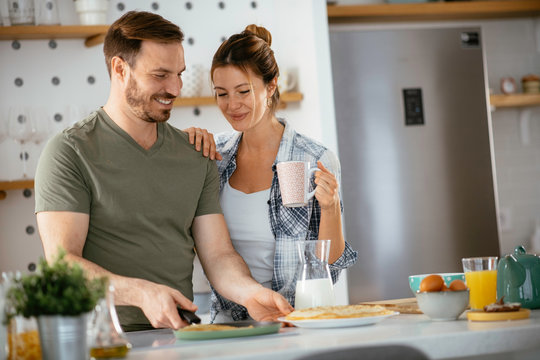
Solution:
[[[43,359],[86,359],[87,314],[105,296],[107,279],[88,279],[78,264],[60,250],[35,273],[14,280],[7,293],[10,315],[35,317]]]

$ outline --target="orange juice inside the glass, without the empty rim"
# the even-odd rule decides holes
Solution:
[[[497,301],[497,270],[465,272],[471,309],[483,309]]]

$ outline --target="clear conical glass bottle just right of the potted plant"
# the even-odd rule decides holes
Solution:
[[[91,323],[90,358],[122,358],[127,355],[131,344],[120,327],[114,307],[114,287],[109,285],[107,295],[94,310]]]

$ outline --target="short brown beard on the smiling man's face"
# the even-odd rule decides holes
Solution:
[[[174,99],[174,96],[169,93],[154,94],[148,100],[141,93],[137,81],[130,77],[126,89],[126,101],[131,106],[133,113],[141,120],[147,122],[164,122],[169,120],[171,110],[151,110],[153,98]]]

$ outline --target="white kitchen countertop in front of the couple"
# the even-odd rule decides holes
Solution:
[[[170,330],[128,333],[130,360],[141,359],[296,359],[303,355],[358,346],[402,344],[432,359],[491,360],[540,358],[540,309],[526,320],[431,321],[425,315],[400,314],[367,326],[334,329],[283,328],[278,334],[182,341]],[[487,358],[487,357],[486,357]]]

